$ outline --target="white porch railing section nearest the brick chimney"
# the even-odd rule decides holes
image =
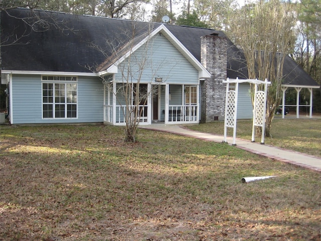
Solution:
[[[169,105],[170,123],[198,122],[198,105]]]

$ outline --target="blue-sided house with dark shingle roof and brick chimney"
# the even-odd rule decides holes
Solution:
[[[242,52],[212,29],[13,9],[1,30],[11,124],[124,125],[126,80],[150,93],[142,125],[223,120],[222,81],[247,78]],[[284,75],[283,89],[319,87],[289,57]],[[238,118],[251,118],[249,85],[238,100]]]

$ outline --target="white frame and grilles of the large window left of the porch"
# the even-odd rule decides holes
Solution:
[[[44,102],[44,88],[43,84],[53,84],[53,102]],[[55,84],[65,85],[65,101],[63,103],[57,102],[55,96]],[[76,84],[76,102],[67,102],[67,85]],[[53,76],[53,75],[43,75],[41,76],[41,106],[42,106],[42,119],[77,119],[78,118],[78,77],[77,76]],[[44,117],[44,104],[52,104],[52,117]],[[56,105],[64,105],[64,117],[56,117]],[[76,117],[67,117],[68,115],[68,105],[76,105]]]

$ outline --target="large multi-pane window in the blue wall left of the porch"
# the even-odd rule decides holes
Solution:
[[[43,118],[77,118],[77,78],[42,76]]]

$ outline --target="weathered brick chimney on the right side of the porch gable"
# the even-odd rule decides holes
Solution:
[[[227,39],[218,33],[201,37],[201,63],[212,74],[201,81],[201,122],[223,121],[227,66]]]

